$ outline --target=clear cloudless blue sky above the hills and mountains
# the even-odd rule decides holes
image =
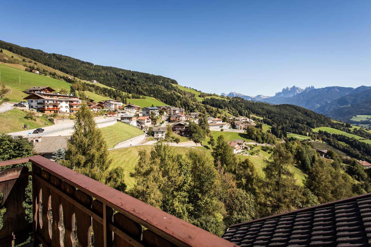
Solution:
[[[371,85],[370,0],[3,1],[0,39],[203,92]]]

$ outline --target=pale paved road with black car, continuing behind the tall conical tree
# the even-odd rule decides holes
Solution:
[[[115,117],[107,117],[105,119],[99,119],[98,121],[95,121],[98,124],[99,128],[108,126],[110,122],[114,124],[116,122]],[[9,133],[9,135],[15,136],[15,135],[22,135],[23,137],[37,137],[37,136],[59,136],[59,135],[70,135],[72,133],[70,130],[72,129],[74,123],[57,123],[52,126],[46,126],[43,129],[45,131],[43,133],[39,134],[28,134],[29,131],[18,131]],[[30,132],[32,133],[35,129],[30,129]]]

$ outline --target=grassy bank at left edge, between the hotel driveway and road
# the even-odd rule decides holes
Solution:
[[[36,120],[25,119],[27,112],[20,109],[0,113],[0,134],[23,131],[23,125],[30,125],[30,129],[53,125],[44,116],[35,116]],[[44,125],[46,123],[46,125]]]

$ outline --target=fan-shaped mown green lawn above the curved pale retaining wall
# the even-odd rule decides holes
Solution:
[[[100,128],[100,130],[107,142],[108,148],[113,148],[120,142],[144,134],[140,129],[123,122],[117,122],[114,125]]]

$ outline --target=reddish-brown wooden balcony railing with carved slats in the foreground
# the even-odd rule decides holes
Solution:
[[[25,162],[32,171],[4,167]],[[0,246],[22,244],[29,233],[43,246],[236,246],[41,156],[1,161],[0,167],[7,168],[0,172],[6,208]],[[32,223],[23,205],[29,176]]]

